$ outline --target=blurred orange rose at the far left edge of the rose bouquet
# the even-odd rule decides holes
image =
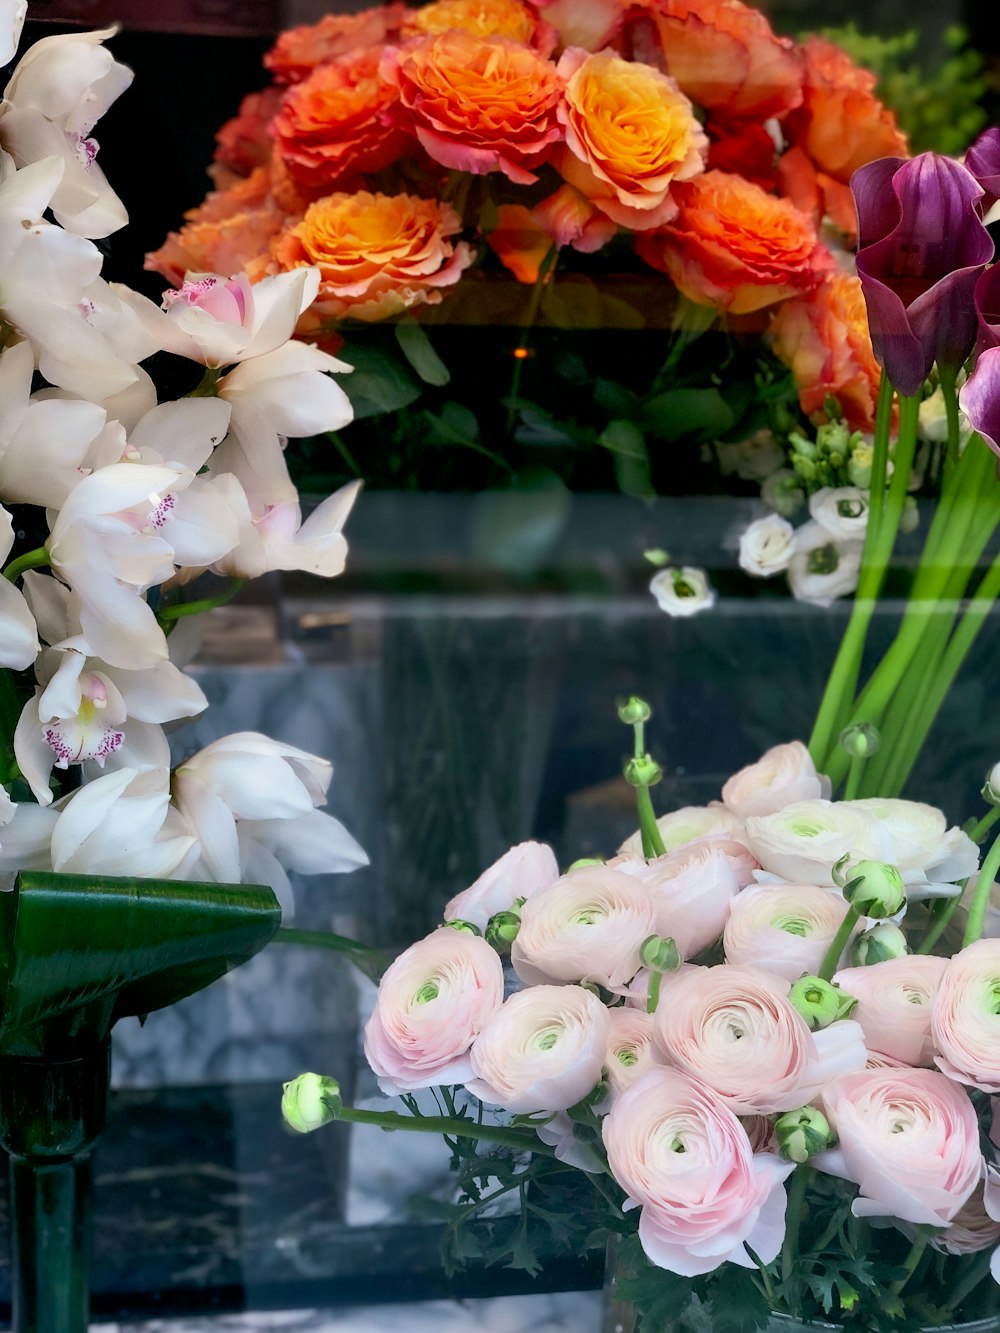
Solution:
[[[221,273],[232,277],[255,259],[267,255],[285,216],[271,199],[267,167],[228,189],[213,191],[199,208],[184,215],[179,232],[171,232],[157,251],[145,256],[144,268],[163,273],[180,287],[184,275]]]

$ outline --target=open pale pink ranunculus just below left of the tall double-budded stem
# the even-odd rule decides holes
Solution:
[[[528,898],[511,962],[527,985],[623,986],[639,972],[643,941],[651,934],[656,904],[648,886],[607,865],[587,865]]]

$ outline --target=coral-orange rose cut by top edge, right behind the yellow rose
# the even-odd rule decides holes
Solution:
[[[672,75],[715,120],[767,120],[801,103],[803,60],[741,0],[645,0]]]

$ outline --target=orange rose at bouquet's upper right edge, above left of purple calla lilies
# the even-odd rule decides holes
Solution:
[[[804,51],[803,104],[784,124],[789,144],[843,184],[876,157],[907,157],[907,136],[875,96],[875,75],[823,37],[809,37]]]

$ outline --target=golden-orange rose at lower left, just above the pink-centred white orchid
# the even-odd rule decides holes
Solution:
[[[345,315],[381,320],[437,304],[473,260],[465,241],[452,240],[460,231],[451,204],[433,199],[328,195],[275,240],[268,272],[317,265],[319,296],[297,329],[309,337]]]

